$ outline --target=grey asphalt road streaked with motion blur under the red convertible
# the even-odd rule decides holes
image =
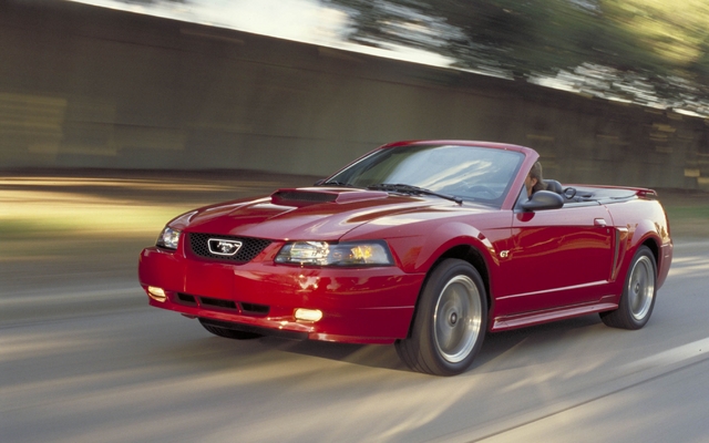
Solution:
[[[677,241],[644,329],[489,334],[436,378],[393,347],[234,341],[150,308],[135,264],[161,226],[131,226],[6,234],[0,442],[709,442],[709,240]]]

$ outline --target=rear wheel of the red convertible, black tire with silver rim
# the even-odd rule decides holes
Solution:
[[[640,329],[653,315],[656,293],[655,256],[647,246],[640,246],[625,277],[618,309],[600,312],[600,319],[612,328]]]

